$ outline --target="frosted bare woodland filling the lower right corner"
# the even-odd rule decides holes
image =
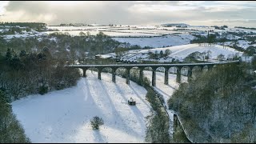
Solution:
[[[246,66],[217,66],[182,83],[169,106],[195,142],[256,142],[255,85]]]

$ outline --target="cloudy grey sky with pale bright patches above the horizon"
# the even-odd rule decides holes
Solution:
[[[2,22],[227,25],[256,27],[256,2],[0,2]]]

